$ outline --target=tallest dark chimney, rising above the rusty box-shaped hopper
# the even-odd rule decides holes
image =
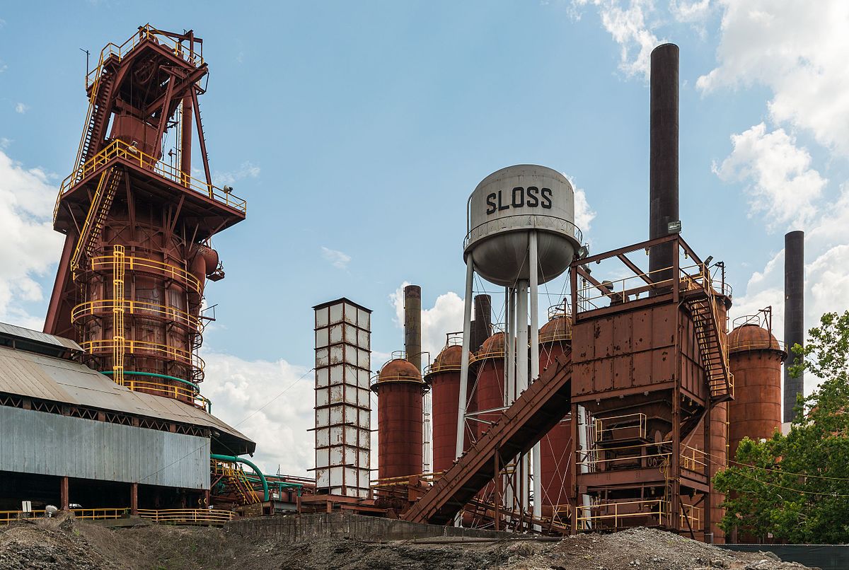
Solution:
[[[651,52],[649,81],[649,239],[669,233],[678,221],[678,46],[665,43]],[[672,243],[649,251],[649,271],[655,281],[672,277]]]

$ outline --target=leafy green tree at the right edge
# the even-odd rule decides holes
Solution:
[[[744,439],[734,462],[717,472],[726,494],[720,526],[755,538],[790,543],[849,542],[849,311],[826,313],[792,347],[791,373],[822,380],[796,403],[790,432],[766,441]]]

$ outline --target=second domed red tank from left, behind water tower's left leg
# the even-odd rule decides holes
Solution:
[[[459,344],[447,345],[424,377],[430,385],[430,399],[433,422],[433,470],[445,471],[457,458],[457,405],[460,395],[460,361],[463,360],[463,347]],[[469,355],[471,360],[471,355]],[[466,449],[471,441],[466,439]]]

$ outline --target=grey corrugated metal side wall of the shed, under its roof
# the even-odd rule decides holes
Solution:
[[[0,471],[210,488],[210,440],[0,406]]]

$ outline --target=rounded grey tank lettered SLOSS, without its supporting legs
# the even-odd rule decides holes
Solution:
[[[562,274],[580,247],[575,191],[557,170],[508,166],[486,176],[469,197],[464,258],[488,282],[529,279],[528,230],[537,230],[539,283]]]

